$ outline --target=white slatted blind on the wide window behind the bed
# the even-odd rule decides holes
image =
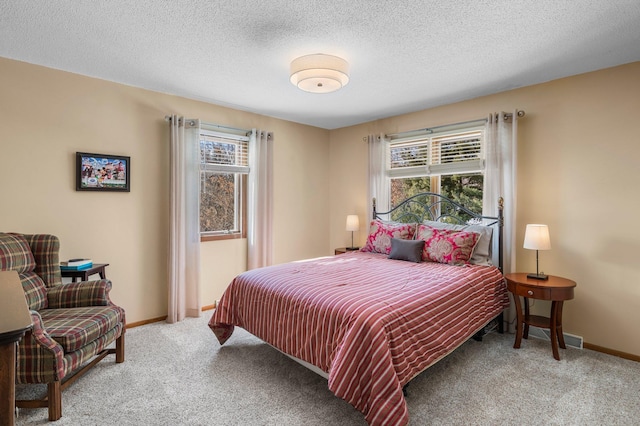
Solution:
[[[484,130],[434,133],[389,143],[389,177],[473,173],[483,170]]]

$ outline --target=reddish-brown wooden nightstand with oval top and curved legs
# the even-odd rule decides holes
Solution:
[[[504,277],[507,280],[507,288],[516,304],[516,341],[513,347],[518,349],[522,342],[522,337],[525,339],[529,337],[530,325],[548,328],[551,331],[553,357],[559,361],[558,344],[562,349],[567,348],[562,334],[562,305],[565,300],[573,299],[575,281],[553,275],[549,275],[548,280],[536,280],[527,278],[526,273],[505,274]],[[520,296],[524,298],[524,313],[522,312]],[[529,301],[527,299],[550,300],[551,313],[549,318],[530,315]]]

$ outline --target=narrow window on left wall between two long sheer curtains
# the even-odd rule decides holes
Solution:
[[[202,130],[200,134],[200,237],[246,237],[249,138]]]

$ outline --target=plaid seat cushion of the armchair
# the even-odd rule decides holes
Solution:
[[[117,306],[45,309],[40,317],[47,334],[65,353],[86,346],[124,321],[123,311]]]

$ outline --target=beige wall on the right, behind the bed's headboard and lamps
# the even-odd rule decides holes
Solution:
[[[517,269],[535,269],[535,254],[522,248],[525,225],[547,223],[552,250],[540,252],[542,269],[578,283],[564,306],[565,332],[640,356],[640,62],[332,131],[332,247],[348,241],[347,214],[366,214],[364,136],[515,108],[526,111],[519,121]],[[360,244],[365,236],[363,226]]]

